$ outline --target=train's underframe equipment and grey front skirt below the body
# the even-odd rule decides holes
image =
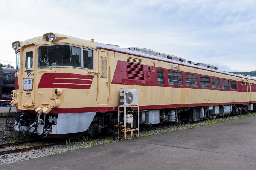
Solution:
[[[128,107],[126,119],[124,118],[124,113],[121,113],[119,122],[120,124],[126,124],[126,128],[131,128],[131,122],[133,122],[133,128],[136,128],[138,124],[146,126],[181,121],[193,122],[226,115],[241,116],[242,112],[246,113],[248,110],[256,111],[256,103],[249,105],[140,110],[138,122],[138,112],[133,110],[132,107]],[[133,115],[131,115],[132,113]],[[74,116],[76,117],[74,118]],[[79,121],[75,121],[78,119]],[[16,113],[15,123],[17,125],[14,128],[23,132],[24,136],[36,133],[39,137],[43,138],[76,139],[81,136],[94,136],[99,133],[113,134],[113,124],[117,120],[117,112],[38,114],[24,111]],[[115,131],[117,131],[117,128]]]

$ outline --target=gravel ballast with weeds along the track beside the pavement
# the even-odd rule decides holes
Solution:
[[[243,117],[248,117],[248,116],[255,116],[255,113],[243,115]],[[195,123],[174,124],[174,125],[170,125],[168,127],[162,127],[162,128],[152,129],[152,130],[149,128],[145,128],[144,131],[140,132],[140,137],[150,136],[150,135],[160,134],[160,133],[166,133],[166,132],[170,132],[170,131],[182,130],[182,129],[186,129],[186,128],[193,128],[193,127],[198,127],[198,126],[203,126],[203,125],[208,125],[208,124],[215,124],[218,122],[232,121],[232,120],[238,119],[238,118],[242,118],[242,117],[231,116],[231,117],[227,117],[227,118],[205,120],[205,121],[195,122]],[[127,134],[127,137],[130,137],[130,134]],[[106,145],[107,143],[119,142],[117,140],[117,136],[116,136],[115,141],[113,141],[112,139],[113,138],[111,138],[111,137],[108,137],[105,139],[95,139],[95,140],[90,140],[90,139],[84,138],[83,140],[81,139],[80,142],[70,142],[70,140],[69,140],[69,141],[66,141],[66,145],[55,145],[55,146],[51,146],[49,148],[43,148],[43,149],[39,149],[39,150],[33,149],[28,152],[0,155],[0,165],[14,163],[17,161],[29,160],[29,159],[38,158],[38,157],[44,157],[47,155],[58,154],[61,152],[72,151],[75,149],[82,149],[82,148],[87,148],[87,147],[96,146],[96,145]],[[46,143],[48,143],[48,142],[26,143],[24,145],[13,146],[13,148],[28,147],[28,146],[41,145],[41,144],[46,144]]]

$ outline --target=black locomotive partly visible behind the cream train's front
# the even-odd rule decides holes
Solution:
[[[15,69],[0,67],[0,105],[6,106],[12,101],[11,91],[14,90]]]

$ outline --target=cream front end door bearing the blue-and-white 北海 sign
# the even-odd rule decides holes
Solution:
[[[21,54],[20,76],[20,104],[22,109],[34,109],[34,92],[35,92],[35,46],[27,46]]]

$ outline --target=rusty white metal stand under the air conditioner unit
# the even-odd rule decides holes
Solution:
[[[138,107],[138,115],[137,115],[137,117],[138,117],[138,123],[137,123],[137,128],[133,128],[133,122],[131,123],[131,128],[126,128],[126,108],[134,108],[134,107]],[[123,110],[120,110],[120,108],[123,108]],[[130,111],[128,111],[128,112],[130,112]],[[132,115],[133,115],[133,110],[131,111],[132,113]],[[124,124],[123,125],[116,125],[116,127],[118,127],[118,139],[120,140],[121,139],[121,134],[120,134],[120,132],[123,132],[124,133],[124,138],[123,138],[123,140],[126,140],[126,133],[127,132],[131,132],[131,137],[139,137],[139,112],[140,112],[140,110],[139,110],[139,106],[118,106],[118,122],[120,122],[120,115],[121,115],[121,113],[124,113]],[[120,128],[123,128],[123,129],[120,129]],[[137,136],[134,136],[134,134],[133,134],[133,132],[134,131],[137,131],[138,132],[138,134],[137,134]]]

